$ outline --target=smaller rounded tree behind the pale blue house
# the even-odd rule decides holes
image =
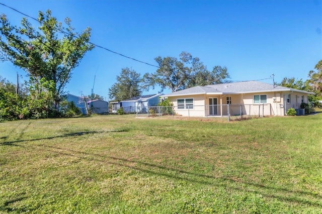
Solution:
[[[130,68],[122,68],[121,74],[116,76],[116,83],[109,88],[109,98],[121,101],[139,96],[142,93],[141,75]]]

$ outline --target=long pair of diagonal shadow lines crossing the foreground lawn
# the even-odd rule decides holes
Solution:
[[[37,145],[39,146],[39,145]],[[39,146],[40,147],[40,146]],[[41,146],[42,149],[44,149],[44,145]],[[306,205],[311,205],[311,206],[318,206],[322,207],[322,196],[318,194],[314,194],[309,191],[300,191],[300,190],[291,190],[287,189],[284,187],[274,187],[274,186],[267,186],[263,185],[260,183],[253,183],[253,182],[248,182],[248,181],[239,181],[236,179],[232,179],[229,177],[215,177],[211,175],[204,175],[204,174],[198,174],[194,172],[189,172],[185,171],[182,169],[176,169],[176,168],[171,168],[171,167],[165,167],[165,166],[160,166],[157,164],[151,164],[151,163],[145,163],[142,161],[133,161],[133,160],[128,160],[124,158],[117,158],[113,156],[106,156],[106,155],[101,155],[101,154],[92,154],[88,152],[82,152],[82,151],[76,151],[72,149],[65,149],[65,148],[60,148],[60,147],[55,147],[55,146],[45,146],[48,148],[47,151],[50,152],[56,152],[60,155],[65,155],[65,156],[73,156],[81,159],[86,159],[88,161],[99,161],[111,165],[118,165],[122,167],[127,167],[129,169],[133,170],[138,170],[141,172],[145,172],[148,174],[153,174],[157,176],[162,176],[162,177],[168,177],[172,179],[177,179],[177,180],[185,180],[189,182],[194,182],[194,183],[200,183],[200,184],[205,184],[205,185],[217,185],[217,186],[222,186],[225,188],[230,188],[234,189],[237,191],[241,192],[250,192],[250,193],[258,193],[263,196],[269,197],[269,198],[275,198],[279,199],[282,201],[288,201],[288,202],[295,202],[299,204],[306,204]],[[133,166],[134,164],[141,165],[140,166]],[[144,168],[145,166],[146,168]],[[164,171],[164,172],[162,172]],[[191,175],[192,177],[187,178],[186,176],[183,176],[182,174],[188,174]],[[196,178],[193,178],[196,177]],[[217,182],[216,182],[217,181]],[[220,181],[228,181],[229,183],[220,183]],[[249,190],[245,187],[242,186],[248,186],[248,187],[253,187],[256,190]],[[264,190],[261,190],[264,189]],[[275,191],[274,193],[265,193],[264,191],[266,190],[273,190]],[[292,195],[289,195],[292,194]],[[308,199],[307,197],[313,197],[316,199],[316,201],[312,201]]]

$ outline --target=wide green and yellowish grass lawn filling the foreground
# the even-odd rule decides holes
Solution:
[[[0,212],[322,213],[322,113],[3,122]]]

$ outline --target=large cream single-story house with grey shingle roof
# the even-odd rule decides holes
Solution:
[[[258,81],[195,86],[162,95],[173,102],[182,116],[208,117],[230,115],[284,116],[290,108],[308,103],[312,92]],[[229,105],[228,105],[229,104]]]

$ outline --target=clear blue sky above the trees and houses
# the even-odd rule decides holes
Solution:
[[[177,57],[187,51],[199,57],[209,70],[226,66],[232,81],[263,80],[274,73],[306,80],[322,59],[321,0],[225,0],[225,1],[116,1],[116,0],[0,0],[7,6],[37,18],[50,9],[63,22],[71,19],[77,32],[92,28],[91,42],[112,51],[157,65],[157,56]],[[23,15],[0,6],[12,24]],[[29,21],[38,27],[36,21]],[[142,75],[155,67],[96,47],[74,69],[65,90],[75,95],[94,93],[108,100],[108,88],[121,69]],[[10,62],[0,62],[0,75],[16,82],[26,73]],[[144,94],[156,93],[155,90]],[[165,93],[170,92],[165,90]]]

